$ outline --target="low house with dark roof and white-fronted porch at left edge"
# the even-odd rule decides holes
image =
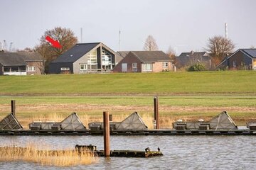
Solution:
[[[44,60],[37,52],[0,52],[0,75],[43,74]]]

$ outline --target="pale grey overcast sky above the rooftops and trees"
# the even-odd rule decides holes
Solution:
[[[0,42],[23,49],[38,45],[44,31],[70,28],[83,42],[112,50],[143,50],[153,35],[159,50],[199,51],[208,38],[225,35],[237,48],[256,46],[254,0],[0,0]]]

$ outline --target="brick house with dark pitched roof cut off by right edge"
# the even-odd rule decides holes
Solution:
[[[216,69],[254,69],[256,70],[256,49],[238,49],[225,57]]]

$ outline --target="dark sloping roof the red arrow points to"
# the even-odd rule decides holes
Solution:
[[[78,43],[74,45],[72,48],[70,48],[70,50],[65,52],[63,55],[60,55],[53,62],[75,62],[99,44],[100,42]]]

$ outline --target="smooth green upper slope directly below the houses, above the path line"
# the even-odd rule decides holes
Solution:
[[[0,94],[256,94],[256,72],[0,77]]]

